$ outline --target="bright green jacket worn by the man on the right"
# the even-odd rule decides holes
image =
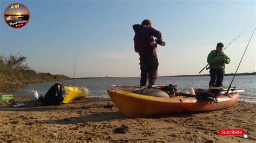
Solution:
[[[219,60],[225,59],[226,62],[219,63]],[[210,54],[208,54],[207,62],[210,65],[210,69],[225,69],[225,63],[230,63],[230,58],[224,52],[220,52],[217,54],[217,51],[214,49],[211,51]]]

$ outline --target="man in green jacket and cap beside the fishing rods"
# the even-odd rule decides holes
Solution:
[[[211,81],[209,88],[222,87],[225,74],[225,63],[230,63],[230,58],[222,51],[224,44],[219,42],[216,49],[208,54],[207,62],[210,65]]]

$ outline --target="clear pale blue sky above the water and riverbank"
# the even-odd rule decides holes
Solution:
[[[5,24],[11,3],[29,8],[29,23]],[[32,69],[76,77],[140,76],[133,24],[150,19],[163,33],[158,75],[198,74],[217,42],[228,45],[234,73],[255,27],[255,1],[0,1],[0,54],[26,56]],[[255,34],[238,73],[256,71]],[[208,74],[204,70],[201,74]]]

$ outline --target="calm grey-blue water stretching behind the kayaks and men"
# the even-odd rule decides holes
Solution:
[[[233,76],[225,76],[223,85],[228,87]],[[75,85],[83,84],[89,89],[90,97],[108,98],[107,89],[110,85],[139,85],[140,77],[119,77],[119,78],[91,78],[75,80]],[[157,84],[178,85],[182,90],[187,87],[208,88],[210,77],[158,77]],[[71,85],[73,80],[59,81],[64,85]],[[56,82],[45,82],[30,84],[14,92],[14,95],[30,96],[32,90],[37,90],[39,94],[45,95],[48,89]],[[256,102],[256,76],[235,76],[232,87],[244,89],[245,93],[240,94],[240,101]]]

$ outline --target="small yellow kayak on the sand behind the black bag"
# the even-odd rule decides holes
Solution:
[[[70,103],[75,99],[83,98],[89,95],[89,90],[86,87],[74,87],[74,86],[64,86],[65,87],[65,97],[62,103]]]

